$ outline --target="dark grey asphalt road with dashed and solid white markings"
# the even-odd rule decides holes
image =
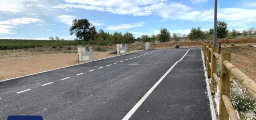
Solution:
[[[128,118],[210,120],[201,50],[187,51],[140,51],[0,82],[0,120],[121,120],[161,78]]]

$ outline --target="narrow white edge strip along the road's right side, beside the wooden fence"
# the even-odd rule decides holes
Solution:
[[[205,64],[204,64],[204,56],[203,56],[202,51],[201,51],[201,54],[202,54],[204,76],[205,76],[205,82],[206,82],[206,88],[207,88],[207,95],[209,97],[209,102],[210,102],[210,109],[211,109],[212,120],[217,120],[216,113],[215,113],[215,108],[214,108],[214,104],[213,104],[213,100],[212,100],[210,85],[209,85],[209,79],[208,79],[206,68],[205,68]]]

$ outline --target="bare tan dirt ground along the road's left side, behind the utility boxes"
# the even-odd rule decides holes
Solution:
[[[94,51],[94,60],[117,56],[110,55],[110,52],[111,51]],[[77,53],[63,53],[57,51],[50,53],[29,51],[0,52],[0,81],[77,64],[77,55]]]

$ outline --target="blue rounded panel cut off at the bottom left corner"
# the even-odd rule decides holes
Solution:
[[[43,120],[43,117],[39,115],[11,115],[8,116],[7,120]]]

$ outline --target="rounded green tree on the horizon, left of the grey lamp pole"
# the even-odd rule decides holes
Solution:
[[[199,39],[204,39],[204,34],[201,30],[201,27],[198,26],[197,28],[192,28],[190,30],[190,33],[188,35],[190,40],[199,40]]]

